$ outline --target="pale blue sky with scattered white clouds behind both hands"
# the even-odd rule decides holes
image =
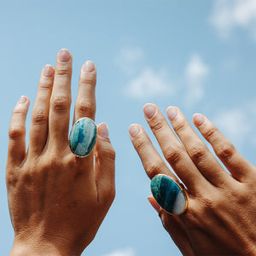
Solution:
[[[150,182],[129,138],[132,123],[143,125],[160,150],[145,103],[165,115],[177,106],[190,122],[204,113],[256,165],[254,0],[0,0],[0,32],[2,255],[14,238],[4,180],[11,112],[28,96],[29,127],[41,69],[55,66],[62,48],[73,55],[73,102],[84,61],[96,64],[96,124],[108,123],[116,150],[116,199],[84,256],[181,255],[148,203]]]

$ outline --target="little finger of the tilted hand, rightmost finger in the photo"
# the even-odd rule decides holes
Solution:
[[[212,148],[233,177],[239,181],[248,181],[255,177],[255,168],[236,150],[234,145],[218,131],[218,128],[204,115],[196,113],[195,126],[202,136],[211,143]]]

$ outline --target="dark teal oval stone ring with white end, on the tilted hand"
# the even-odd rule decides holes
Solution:
[[[188,197],[185,191],[171,177],[163,174],[153,177],[151,192],[160,207],[172,215],[181,215],[188,208]]]

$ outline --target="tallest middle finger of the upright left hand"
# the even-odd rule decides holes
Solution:
[[[55,79],[49,102],[49,143],[65,148],[68,143],[71,104],[72,55],[61,49],[57,55]]]

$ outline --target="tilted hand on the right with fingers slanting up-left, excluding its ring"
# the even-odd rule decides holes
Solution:
[[[144,107],[148,125],[177,177],[185,185],[189,207],[173,216],[149,198],[166,231],[184,255],[256,254],[256,168],[239,154],[205,116],[193,121],[230,172],[226,172],[178,108]],[[148,177],[166,174],[177,181],[140,125],[131,125],[131,141]],[[178,138],[180,141],[178,140]]]

